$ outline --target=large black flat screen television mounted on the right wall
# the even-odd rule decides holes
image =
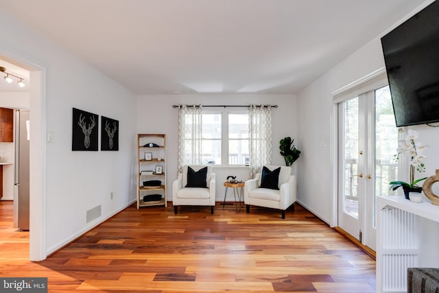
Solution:
[[[381,38],[396,126],[439,121],[439,1]]]

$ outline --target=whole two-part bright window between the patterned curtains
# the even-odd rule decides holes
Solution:
[[[202,112],[202,163],[248,165],[248,112]]]

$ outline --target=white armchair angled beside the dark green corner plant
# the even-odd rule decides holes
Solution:
[[[278,173],[277,187],[261,188],[261,173],[258,173],[254,179],[247,180],[244,185],[244,202],[246,211],[250,213],[250,204],[259,207],[270,207],[272,209],[280,209],[282,218],[285,219],[285,210],[290,206],[294,211],[294,202],[296,202],[296,176],[291,174],[291,167],[287,166],[265,166],[270,171],[274,171],[281,167]],[[266,181],[265,181],[266,183]],[[264,184],[266,187],[267,184]]]

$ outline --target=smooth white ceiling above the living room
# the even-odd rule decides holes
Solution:
[[[0,0],[0,9],[138,95],[297,93],[423,2]]]

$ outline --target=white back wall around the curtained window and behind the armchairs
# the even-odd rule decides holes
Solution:
[[[265,95],[265,94],[193,94],[193,95],[142,95],[137,99],[137,132],[166,134],[167,141],[167,200],[172,198],[172,181],[177,178],[177,144],[178,144],[178,109],[172,108],[176,104],[202,105],[248,105],[271,104],[278,105],[272,108],[272,163],[285,165],[283,156],[279,154],[279,141],[284,137],[292,137],[296,148],[301,150],[302,143],[297,139],[297,115],[295,95]],[[209,108],[210,110],[211,108]],[[230,108],[233,110],[236,108]],[[294,163],[293,174],[300,159]],[[237,176],[238,180],[248,179],[246,167],[215,167],[217,174],[217,201],[224,200],[224,187],[228,175]],[[226,200],[233,200],[233,194],[228,191]]]

